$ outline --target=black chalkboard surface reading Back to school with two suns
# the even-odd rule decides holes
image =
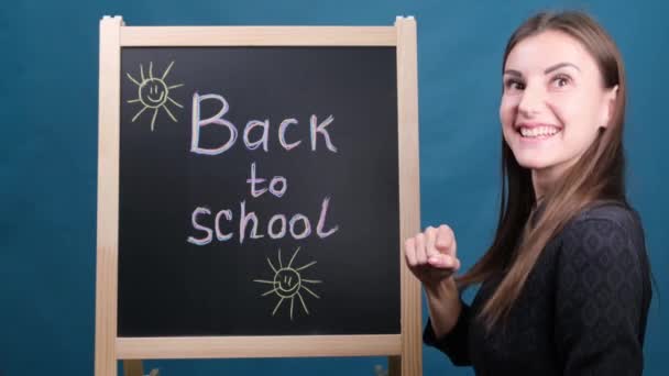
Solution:
[[[123,47],[119,336],[390,334],[395,47]]]

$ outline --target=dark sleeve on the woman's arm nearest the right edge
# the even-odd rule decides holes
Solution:
[[[640,252],[618,222],[568,225],[557,262],[555,338],[563,375],[640,375]]]

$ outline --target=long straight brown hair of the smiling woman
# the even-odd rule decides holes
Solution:
[[[531,221],[536,198],[530,170],[518,165],[502,137],[502,195],[495,239],[483,257],[456,278],[462,290],[493,274],[504,273],[497,289],[480,312],[489,330],[508,314],[541,251],[570,219],[597,201],[613,200],[626,204],[623,151],[625,73],[621,53],[602,26],[577,11],[534,15],[508,40],[502,70],[518,42],[549,30],[560,31],[579,41],[597,63],[604,87],[618,86],[617,96],[607,126],[600,129],[579,161],[545,193],[541,214]]]

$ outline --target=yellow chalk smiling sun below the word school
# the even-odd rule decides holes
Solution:
[[[290,300],[290,321],[293,321],[293,307],[295,305],[295,297],[299,299],[299,302],[301,303],[301,308],[304,309],[305,313],[309,314],[309,310],[307,309],[307,305],[305,303],[305,299],[303,298],[300,291],[306,291],[315,298],[320,299],[320,297],[316,295],[316,292],[311,291],[311,289],[309,289],[307,286],[305,286],[305,284],[322,283],[322,280],[305,279],[300,274],[300,270],[312,266],[314,264],[316,264],[316,262],[310,262],[309,264],[303,265],[300,267],[293,267],[293,261],[295,261],[295,256],[297,256],[298,252],[299,247],[295,250],[295,253],[293,254],[293,257],[290,257],[290,262],[288,262],[288,265],[283,266],[281,261],[281,250],[278,250],[278,268],[274,267],[270,258],[267,258],[267,263],[274,272],[274,278],[271,280],[253,279],[253,281],[259,284],[272,285],[272,289],[261,296],[265,297],[271,294],[276,294],[276,296],[281,298],[274,307],[272,316],[276,313],[278,307],[281,307],[284,300]]]

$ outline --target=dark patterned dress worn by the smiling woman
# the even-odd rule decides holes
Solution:
[[[544,248],[507,321],[475,317],[503,275],[462,301],[453,329],[424,342],[476,375],[640,375],[651,298],[644,230],[622,204],[584,210]]]

